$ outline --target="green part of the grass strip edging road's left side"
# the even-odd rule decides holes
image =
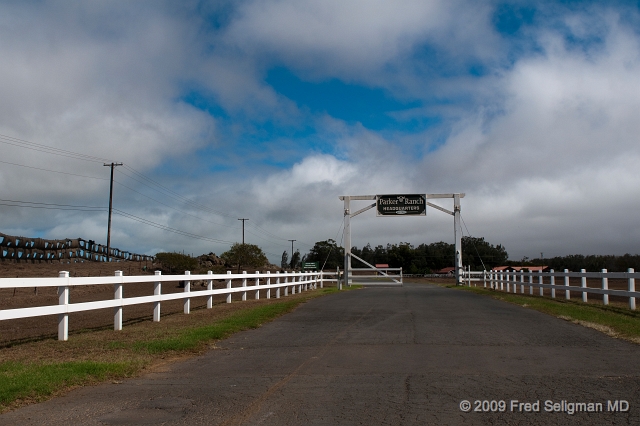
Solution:
[[[356,287],[351,289],[354,288]],[[87,341],[78,342],[73,346],[66,345],[65,362],[59,362],[59,357],[53,359],[45,357],[36,362],[0,362],[0,413],[28,402],[43,401],[74,386],[131,377],[140,373],[153,361],[164,358],[164,354],[180,355],[204,350],[207,348],[207,343],[211,341],[227,338],[239,331],[260,327],[268,321],[291,312],[299,304],[313,297],[338,291],[335,287],[323,288],[307,297],[241,309],[208,324],[170,329],[169,335],[162,338],[149,337],[148,334],[140,333],[140,337],[136,337],[133,341],[117,340],[97,344]],[[72,338],[80,339],[80,335]],[[34,346],[30,350],[37,351],[38,345],[47,344],[51,342],[32,343]],[[119,353],[120,362],[86,360],[89,352],[100,352],[104,355],[114,351]],[[85,360],[81,360],[83,358]],[[121,361],[122,359],[126,361]]]

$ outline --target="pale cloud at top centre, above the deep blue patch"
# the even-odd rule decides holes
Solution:
[[[426,42],[453,56],[491,55],[499,40],[489,14],[488,5],[467,1],[257,0],[240,8],[226,36],[310,76],[362,81]]]

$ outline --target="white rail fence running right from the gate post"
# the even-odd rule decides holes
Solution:
[[[580,278],[580,286],[569,285],[571,278]],[[587,279],[597,279],[600,288],[588,287]],[[601,294],[602,303],[609,304],[609,296],[620,296],[629,299],[629,309],[636,309],[636,297],[640,297],[640,292],[636,291],[636,278],[640,278],[640,273],[635,272],[633,268],[629,268],[627,272],[586,272],[582,269],[580,272],[570,272],[565,269],[564,272],[496,272],[496,271],[468,271],[465,270],[463,281],[466,285],[477,286],[478,282],[483,283],[483,287],[493,290],[506,291],[508,293],[517,293],[520,287],[520,293],[525,293],[525,287],[528,287],[529,294],[534,294],[534,288],[539,289],[539,295],[544,295],[544,289],[550,289],[551,297],[556,297],[556,290],[565,291],[565,299],[571,299],[571,292],[577,292],[582,295],[582,301],[588,301],[588,294]],[[556,284],[556,279],[561,280],[562,284]],[[609,288],[609,280],[625,280],[627,290],[616,290]],[[512,291],[513,289],[513,291]]]

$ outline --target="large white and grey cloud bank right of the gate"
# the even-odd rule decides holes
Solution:
[[[640,208],[631,195],[640,185],[640,45],[609,24],[603,44],[586,51],[543,34],[544,52],[504,73],[503,113],[458,122],[425,160],[438,181],[455,170],[467,214],[516,256],[637,251],[637,232],[611,224],[637,229],[616,206]]]

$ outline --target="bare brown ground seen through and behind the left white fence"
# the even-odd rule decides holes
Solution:
[[[151,265],[149,265],[151,266]],[[147,268],[144,262],[85,262],[85,263],[53,263],[53,264],[26,264],[0,262],[0,277],[57,277],[60,271],[68,271],[74,277],[95,277],[113,276],[116,271],[123,271],[124,275],[152,275],[151,268]],[[124,297],[138,297],[153,295],[153,283],[127,283],[124,284]],[[232,287],[240,287],[241,280],[233,280]],[[248,283],[252,285],[252,280]],[[224,288],[226,282],[214,280],[213,288]],[[191,281],[191,291],[203,290],[206,288],[205,281]],[[180,293],[184,288],[178,281],[163,282],[162,293]],[[272,290],[272,294],[274,291]],[[112,299],[114,288],[111,285],[87,285],[74,286],[70,288],[70,302],[92,302],[98,300]],[[233,294],[234,301],[240,300],[240,293]],[[266,299],[266,290],[261,290],[260,299]],[[255,299],[255,291],[247,292],[248,299]],[[226,300],[225,295],[214,296],[214,311],[227,312],[228,310],[239,309],[240,304],[222,303]],[[191,310],[206,310],[207,297],[192,297]],[[247,303],[247,302],[244,302]],[[36,306],[49,306],[58,304],[57,287],[33,288],[5,288],[0,289],[0,310],[18,309]],[[183,300],[171,300],[162,302],[161,312],[164,324],[164,317],[172,317],[174,314],[182,314]],[[126,330],[133,324],[141,322],[152,322],[153,303],[126,306],[123,309],[123,328]],[[208,310],[211,311],[211,310]],[[187,315],[188,317],[188,315]],[[86,312],[75,312],[69,314],[69,339],[73,340],[74,335],[96,332],[102,330],[113,330],[113,308],[98,309]],[[15,320],[0,321],[0,348],[15,346],[16,344],[27,343],[44,339],[57,339],[58,318],[57,315],[48,315],[35,318],[22,318]]]

